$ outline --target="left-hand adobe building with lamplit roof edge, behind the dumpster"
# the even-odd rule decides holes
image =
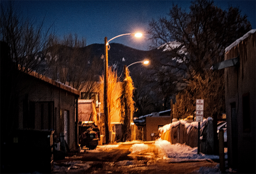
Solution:
[[[52,130],[64,151],[75,150],[79,91],[33,71],[25,73],[17,90],[18,129]]]

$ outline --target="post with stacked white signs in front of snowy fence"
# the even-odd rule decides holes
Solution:
[[[204,118],[204,99],[196,99],[196,121],[198,121],[197,154],[200,153],[200,122]]]

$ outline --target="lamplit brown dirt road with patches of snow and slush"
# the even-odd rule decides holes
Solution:
[[[54,162],[52,173],[198,173],[200,167],[214,167],[211,160],[173,163],[159,157],[154,144],[143,153],[129,151],[131,144],[118,147],[98,146],[95,150],[69,154]]]

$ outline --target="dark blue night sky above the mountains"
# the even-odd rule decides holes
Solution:
[[[44,26],[49,27],[53,23],[53,29],[61,38],[69,33],[76,33],[87,39],[87,45],[104,43],[104,37],[111,39],[119,34],[144,31],[151,19],[167,16],[173,3],[187,9],[190,5],[187,0],[16,0],[15,3],[25,14],[37,18],[39,22],[45,16]],[[228,10],[230,5],[239,6],[242,15],[248,15],[252,28],[256,28],[256,0],[217,0],[214,3],[223,10]],[[111,41],[110,45],[113,42],[141,50],[147,50],[150,43],[146,35],[140,39],[123,36]]]

